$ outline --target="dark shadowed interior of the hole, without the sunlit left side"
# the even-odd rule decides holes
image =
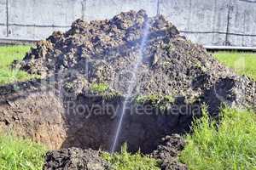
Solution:
[[[62,147],[110,150],[119,121],[116,115],[120,114],[122,104],[123,98],[106,100],[102,96],[80,95],[76,100],[67,99],[65,121],[68,130]],[[189,112],[196,109],[196,105],[180,103],[165,113],[152,105],[133,102],[125,112],[118,148],[127,143],[131,152],[151,153],[166,135],[188,132],[192,120]]]

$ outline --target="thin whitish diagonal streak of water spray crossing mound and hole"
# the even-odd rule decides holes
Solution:
[[[123,121],[124,121],[125,109],[129,105],[129,101],[131,99],[132,91],[137,85],[137,71],[138,71],[138,68],[143,63],[143,51],[146,48],[146,44],[148,42],[148,33],[149,33],[149,28],[151,26],[150,25],[150,20],[146,20],[145,22],[146,23],[145,23],[145,26],[143,28],[143,39],[142,39],[142,42],[141,42],[141,45],[140,45],[139,54],[137,55],[136,64],[134,65],[134,67],[131,70],[131,76],[132,76],[131,77],[131,82],[129,84],[127,84],[127,86],[128,86],[127,95],[125,96],[124,105],[123,105],[123,108],[122,108],[122,111],[121,111],[121,115],[119,117],[118,127],[116,128],[116,133],[115,133],[115,136],[114,136],[113,145],[112,145],[112,148],[111,148],[111,153],[113,153],[116,150],[117,144],[119,142],[119,133],[121,132],[122,124],[123,124]]]

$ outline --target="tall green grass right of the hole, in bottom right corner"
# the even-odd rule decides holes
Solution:
[[[224,109],[222,121],[211,122],[206,111],[195,121],[194,133],[180,160],[192,170],[256,169],[256,115],[250,111]]]

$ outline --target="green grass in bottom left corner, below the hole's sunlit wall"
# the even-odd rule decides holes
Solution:
[[[1,170],[41,170],[45,148],[30,140],[0,135]]]

